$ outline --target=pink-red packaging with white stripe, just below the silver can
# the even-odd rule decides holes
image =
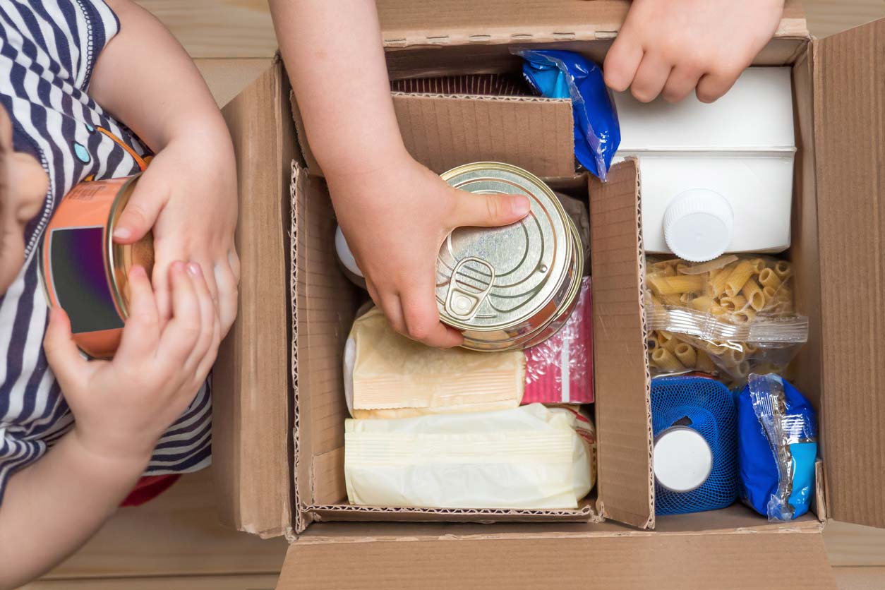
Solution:
[[[578,304],[550,339],[526,349],[523,403],[593,402],[593,313],[590,278],[581,280]]]

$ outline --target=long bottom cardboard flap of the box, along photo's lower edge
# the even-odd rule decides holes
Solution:
[[[716,588],[830,590],[822,535],[709,533],[464,540],[394,537],[289,547],[278,590]]]

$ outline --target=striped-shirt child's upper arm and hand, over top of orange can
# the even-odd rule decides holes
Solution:
[[[230,134],[209,88],[172,34],[131,0],[108,4],[120,31],[98,57],[89,96],[157,154],[114,239],[137,241],[153,227],[153,284],[162,318],[170,309],[169,264],[179,259],[200,264],[227,333],[236,315],[239,280]]]

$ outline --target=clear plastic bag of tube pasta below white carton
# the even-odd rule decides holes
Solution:
[[[648,257],[645,287],[655,375],[700,371],[740,387],[751,372],[784,374],[808,340],[808,318],[797,313],[785,260]]]

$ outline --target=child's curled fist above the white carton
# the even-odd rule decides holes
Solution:
[[[783,0],[634,0],[605,57],[605,83],[643,103],[675,103],[696,89],[712,103],[765,47]]]

